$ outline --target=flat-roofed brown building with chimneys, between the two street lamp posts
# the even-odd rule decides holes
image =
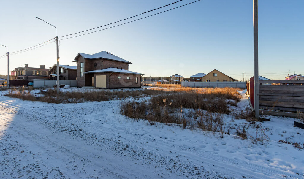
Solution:
[[[11,72],[12,80],[49,79],[49,75],[49,69],[46,69],[45,65],[40,65],[40,68],[34,68],[25,64],[24,67],[15,68]]]

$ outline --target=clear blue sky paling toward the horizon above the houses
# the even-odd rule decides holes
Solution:
[[[0,44],[9,52],[22,50],[57,35],[94,28],[177,0],[2,1]],[[194,0],[193,0],[194,1]],[[192,2],[184,0],[166,9]],[[253,76],[252,0],[202,0],[153,17],[85,36],[60,41],[60,64],[72,62],[78,52],[110,51],[131,61],[129,70],[147,76],[189,77],[217,69],[235,79]],[[260,0],[259,72],[285,79],[288,72],[304,74],[304,1]],[[155,13],[150,12],[146,15]],[[146,16],[141,15],[140,17]],[[0,56],[6,53],[0,47]],[[0,74],[7,73],[6,58]],[[51,67],[56,63],[56,44],[11,55],[15,67]]]

